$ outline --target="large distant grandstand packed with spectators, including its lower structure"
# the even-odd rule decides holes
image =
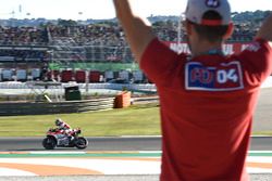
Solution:
[[[236,28],[233,37],[224,46],[226,53],[239,52],[252,41],[260,27],[260,22],[265,14],[269,14],[268,12],[257,13],[258,21],[249,21],[245,13],[242,13],[243,16],[234,13]],[[178,22],[176,20],[161,21],[160,18],[159,22],[153,22],[154,33],[171,49],[178,52],[189,51],[185,39],[182,39],[181,43],[176,43],[178,41]],[[183,29],[181,31],[183,35]],[[49,68],[50,76],[57,77],[66,75],[67,72],[61,74],[62,70],[72,70],[69,72],[72,75],[69,80],[75,80],[78,75],[88,77],[88,75],[99,72],[102,76],[99,81],[104,81],[121,78],[120,73],[123,70],[129,72],[127,77],[135,78],[133,75],[136,72],[138,74],[138,66],[133,63],[133,60],[124,33],[115,21],[88,25],[48,23],[41,26],[0,26],[0,64],[2,68],[0,73],[11,69],[13,78],[10,80],[14,79],[16,69],[26,69],[28,77],[36,77],[35,79],[37,79],[37,75],[32,75],[33,69],[40,69],[40,78],[48,77],[42,75],[42,73],[46,74],[46,67]],[[85,72],[85,74],[81,72]],[[106,75],[114,76],[106,77]],[[0,80],[3,80],[2,77]],[[144,81],[145,76],[140,77]]]

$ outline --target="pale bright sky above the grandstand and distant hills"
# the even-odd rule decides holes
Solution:
[[[178,15],[187,0],[133,0],[143,16]],[[272,0],[230,0],[232,11],[272,10]],[[81,13],[79,13],[81,12]],[[111,18],[112,0],[0,0],[0,18]]]

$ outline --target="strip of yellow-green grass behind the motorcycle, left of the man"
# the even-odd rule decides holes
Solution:
[[[0,117],[0,137],[44,137],[62,118],[85,137],[159,135],[159,108],[156,104],[95,113]]]

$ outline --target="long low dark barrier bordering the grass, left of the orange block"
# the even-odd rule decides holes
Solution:
[[[48,115],[112,109],[114,98],[52,103],[0,103],[0,116]]]

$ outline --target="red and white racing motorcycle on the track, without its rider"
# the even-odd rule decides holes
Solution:
[[[84,150],[88,146],[88,140],[84,137],[78,137],[81,133],[81,129],[74,129],[73,133],[67,135],[59,129],[50,128],[42,140],[42,146],[46,150],[54,150],[55,147],[77,147]]]

